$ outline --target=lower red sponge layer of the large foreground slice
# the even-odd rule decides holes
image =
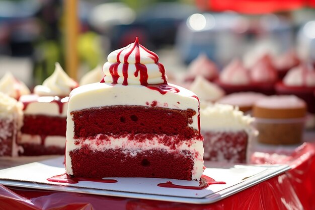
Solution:
[[[193,159],[189,154],[189,151],[169,153],[166,150],[147,150],[137,153],[136,156],[129,156],[122,149],[99,152],[85,147],[71,151],[70,157],[75,177],[149,177],[191,180]]]

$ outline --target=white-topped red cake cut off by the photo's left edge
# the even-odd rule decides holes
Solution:
[[[18,155],[22,118],[22,104],[0,92],[0,156]]]

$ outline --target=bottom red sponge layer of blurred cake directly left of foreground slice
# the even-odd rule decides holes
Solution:
[[[45,147],[44,145],[37,144],[20,144],[24,152],[19,155],[23,156],[39,156],[39,155],[64,155],[65,148],[56,146]]]

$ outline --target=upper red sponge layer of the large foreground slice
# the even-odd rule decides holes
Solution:
[[[195,114],[192,109],[120,105],[71,112],[74,121],[74,138],[128,132],[180,134],[187,139],[198,134],[197,130],[189,126]]]

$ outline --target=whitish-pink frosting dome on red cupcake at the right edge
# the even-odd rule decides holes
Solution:
[[[300,64],[292,68],[283,78],[287,86],[315,87],[315,71],[310,65]]]

